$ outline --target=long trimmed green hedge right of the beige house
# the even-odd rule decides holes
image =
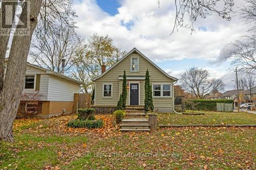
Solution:
[[[233,103],[233,100],[205,100],[205,99],[197,99],[190,100],[190,102],[194,102],[196,110],[205,110],[205,111],[217,111],[217,103]],[[193,110],[191,105],[186,101],[185,102],[186,109]]]

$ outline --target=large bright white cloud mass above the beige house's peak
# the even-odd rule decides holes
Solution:
[[[197,29],[190,35],[189,29],[169,35],[174,25],[173,1],[123,0],[118,14],[110,16],[95,0],[83,0],[74,6],[78,18],[78,34],[88,38],[93,33],[109,34],[117,46],[129,51],[137,47],[146,56],[155,60],[198,58],[216,60],[222,47],[237,39],[246,30],[237,18],[225,21],[217,15],[199,18]],[[132,23],[132,25],[131,25]],[[124,25],[130,24],[130,29]]]

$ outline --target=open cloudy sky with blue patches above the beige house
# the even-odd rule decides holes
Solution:
[[[174,1],[160,0],[75,0],[77,34],[88,38],[93,33],[109,35],[121,50],[136,47],[169,75],[180,78],[189,67],[209,70],[211,78],[222,78],[226,89],[233,87],[234,74],[225,57],[250,27],[237,14],[230,21],[217,14],[198,18],[196,32],[180,28],[172,35]],[[240,7],[243,0],[236,0]],[[230,73],[231,72],[231,73]],[[226,76],[228,74],[228,76]],[[231,75],[231,76],[230,76]],[[228,77],[228,79],[226,79]]]

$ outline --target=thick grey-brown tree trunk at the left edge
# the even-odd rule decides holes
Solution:
[[[23,91],[31,38],[37,24],[41,4],[42,0],[30,1],[30,34],[13,37],[3,89],[0,93],[0,98],[2,98],[0,101],[0,140],[13,141],[13,120],[16,117]],[[20,18],[26,17],[26,10],[25,5]],[[19,26],[17,26],[18,28]]]

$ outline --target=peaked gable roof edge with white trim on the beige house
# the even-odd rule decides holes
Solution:
[[[138,53],[139,55],[141,55],[144,59],[146,59],[148,62],[150,62],[152,65],[154,65],[158,70],[160,70],[165,76],[167,76],[170,79],[173,79],[175,81],[177,81],[178,79],[175,77],[172,77],[170,75],[168,75],[164,70],[162,70],[160,67],[158,67],[155,63],[153,63],[150,59],[148,59],[145,55],[143,55],[137,48],[133,48],[133,50],[131,50],[129,53],[127,53],[125,56],[123,56],[119,61],[117,61],[115,64],[113,64],[109,69],[107,69],[105,72],[103,72],[103,74],[101,74],[100,76],[92,79],[93,81],[101,78],[102,76],[104,76],[107,72],[109,72],[112,68],[114,68],[117,64],[119,64],[121,61],[123,61],[126,57],[128,57],[130,54],[132,53]]]

